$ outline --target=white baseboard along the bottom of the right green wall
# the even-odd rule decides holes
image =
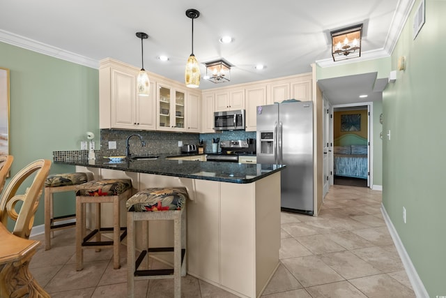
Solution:
[[[413,291],[415,292],[416,297],[418,298],[429,298],[429,294],[426,291],[426,288],[424,288],[424,284],[420,279],[420,276],[417,274],[417,270],[413,266],[412,261],[410,260],[410,257],[406,251],[406,248],[404,248],[403,242],[401,242],[401,239],[399,238],[399,235],[397,233],[397,230],[395,230],[395,227],[390,220],[389,215],[387,214],[387,211],[385,211],[384,205],[381,204],[381,212],[383,213],[384,221],[387,225],[387,228],[389,229],[390,236],[393,239],[393,242],[395,246],[397,247],[397,251],[399,253],[399,258],[401,258],[401,262],[403,262],[404,269],[406,269],[406,274],[409,278],[410,284],[412,285]]]

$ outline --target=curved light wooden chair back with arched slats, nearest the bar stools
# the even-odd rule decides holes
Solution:
[[[26,165],[20,172],[15,174],[1,195],[0,221],[5,226],[8,223],[8,218],[15,221],[13,234],[18,237],[28,239],[29,234],[31,234],[34,214],[36,214],[40,196],[43,193],[43,185],[45,184],[45,179],[47,179],[49,167],[51,167],[51,161],[45,159],[39,159]],[[26,188],[23,195],[17,194],[22,183],[34,172],[36,172],[36,175],[31,186]],[[19,201],[23,203],[17,214],[15,207]]]

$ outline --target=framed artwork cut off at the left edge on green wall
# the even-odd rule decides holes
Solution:
[[[9,154],[9,69],[0,67],[0,155]]]

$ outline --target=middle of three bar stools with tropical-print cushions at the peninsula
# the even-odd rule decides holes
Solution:
[[[76,270],[84,268],[84,249],[95,248],[100,251],[103,247],[113,248],[113,268],[121,267],[119,262],[119,246],[127,235],[127,229],[121,228],[120,208],[121,200],[128,200],[132,196],[132,181],[130,179],[96,179],[78,188],[76,192]],[[86,235],[86,208],[84,204],[95,205],[95,228]],[[101,227],[101,204],[113,204],[113,227]],[[113,241],[101,241],[101,233],[113,232]],[[90,241],[95,237],[95,241]]]

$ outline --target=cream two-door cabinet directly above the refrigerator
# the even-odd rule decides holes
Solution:
[[[311,74],[295,75],[270,83],[268,105],[282,103],[283,100],[291,98],[301,101],[312,100]]]

